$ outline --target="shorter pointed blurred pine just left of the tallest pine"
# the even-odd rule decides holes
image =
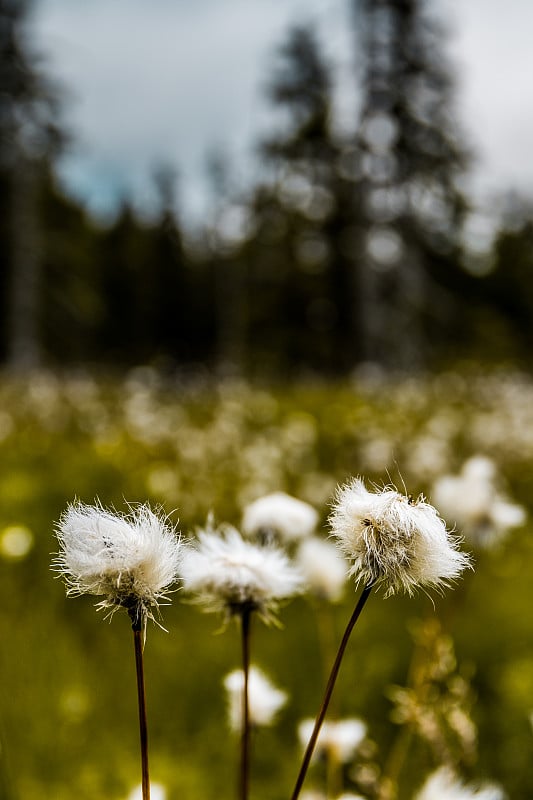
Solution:
[[[351,143],[334,129],[332,87],[313,28],[292,29],[270,83],[285,124],[263,146],[274,180],[255,198],[263,249],[252,261],[264,301],[270,291],[261,328],[270,317],[269,341],[277,341],[285,366],[330,373],[353,366],[360,341],[350,245],[357,182],[347,168]]]

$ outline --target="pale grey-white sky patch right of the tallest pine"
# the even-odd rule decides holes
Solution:
[[[533,4],[453,0],[444,11],[452,18],[458,110],[477,152],[473,185],[481,194],[531,192]]]

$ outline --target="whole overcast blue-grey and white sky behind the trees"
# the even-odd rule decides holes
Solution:
[[[477,154],[472,186],[533,195],[532,0],[434,3]],[[250,180],[253,145],[272,122],[264,85],[275,49],[306,20],[337,65],[342,116],[355,118],[350,0],[36,0],[36,44],[67,93],[67,186],[94,211],[121,191],[149,204],[151,171],[171,163],[198,218],[210,150],[225,148],[236,179]]]

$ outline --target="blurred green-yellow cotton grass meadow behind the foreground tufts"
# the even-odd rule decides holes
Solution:
[[[318,511],[325,538],[335,488],[352,476],[439,499],[475,569],[442,597],[370,597],[330,708],[331,720],[363,723],[364,737],[347,758],[312,762],[307,797],[375,798],[390,775],[411,800],[443,763],[472,791],[490,781],[509,798],[533,796],[530,378],[366,375],[267,389],[139,369],[5,376],[0,396],[0,797],[140,796],[129,621],[105,622],[96,598],[66,598],[50,569],[68,503],[148,501],[190,537],[210,512],[239,527],[251,501],[284,491]],[[335,603],[310,593],[287,603],[281,628],[253,622],[252,663],[286,693],[276,720],[253,731],[254,800],[290,797],[298,726],[318,710],[355,597],[348,580]],[[224,680],[240,666],[237,626],[183,591],[162,611],[168,632],[149,625],[145,648],[152,781],[167,800],[234,798],[239,737]]]

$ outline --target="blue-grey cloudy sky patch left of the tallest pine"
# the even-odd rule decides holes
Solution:
[[[342,5],[41,0],[35,36],[68,89],[77,143],[62,164],[67,183],[105,206],[113,186],[139,194],[157,163],[178,165],[187,187],[212,147],[246,160],[269,117],[262,87],[284,30],[310,13],[338,18]]]

